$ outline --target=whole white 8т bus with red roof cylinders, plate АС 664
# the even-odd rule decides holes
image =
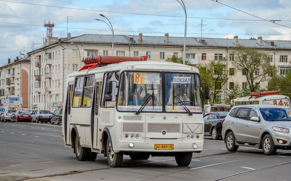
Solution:
[[[78,160],[93,161],[103,153],[117,167],[123,155],[175,156],[178,165],[187,166],[192,153],[203,150],[197,68],[149,62],[146,56],[98,55],[83,62],[67,77],[62,122],[65,146]],[[204,89],[209,98],[209,87]]]

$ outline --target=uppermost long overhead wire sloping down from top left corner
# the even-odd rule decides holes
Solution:
[[[113,13],[132,14],[132,15],[147,15],[147,16],[163,16],[163,17],[181,17],[181,18],[184,18],[184,16],[152,15],[152,14],[141,14],[141,13],[131,13],[131,12],[117,12],[117,11],[92,10],[92,9],[82,9],[82,8],[69,8],[69,7],[62,7],[62,6],[50,6],[50,5],[43,5],[43,4],[23,3],[23,2],[5,1],[5,0],[0,0],[0,1],[10,2],[10,3],[29,4],[29,5],[35,5],[35,6],[47,6],[47,7],[54,7],[54,8],[75,9],[75,10],[97,11],[97,12],[113,12]],[[187,18],[225,19],[225,20],[242,20],[242,21],[265,21],[265,20],[256,20],[256,19],[227,19],[227,18],[205,18],[205,17],[187,17]],[[291,20],[281,20],[281,21],[291,21]]]

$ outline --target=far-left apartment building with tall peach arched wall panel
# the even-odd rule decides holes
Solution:
[[[23,105],[3,106],[5,109],[29,109],[30,60],[28,57],[8,58],[8,63],[0,67],[0,102],[6,97],[22,97]]]

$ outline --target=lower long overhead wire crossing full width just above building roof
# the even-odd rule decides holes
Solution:
[[[0,23],[19,24],[19,25],[28,25],[28,26],[42,26],[43,27],[43,25],[9,23],[9,22],[3,22],[3,21],[0,21]],[[58,27],[58,26],[55,26],[54,28],[67,28],[67,27]],[[72,29],[111,31],[111,30],[90,29],[90,28],[72,28]],[[148,32],[148,31],[121,31],[121,30],[114,30],[114,31],[119,31],[119,32],[133,32],[133,33],[169,33],[169,32]],[[184,33],[170,33],[170,34],[184,34]],[[200,33],[187,33],[187,34],[198,35]],[[205,34],[205,35],[227,35],[227,34],[235,34],[235,35],[289,35],[289,33],[203,33],[203,34]]]

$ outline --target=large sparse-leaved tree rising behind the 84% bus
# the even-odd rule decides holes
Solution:
[[[246,76],[246,81],[251,92],[256,89],[255,83],[269,80],[270,73],[276,72],[276,66],[271,65],[267,53],[238,45],[231,52],[235,58],[233,67]]]

